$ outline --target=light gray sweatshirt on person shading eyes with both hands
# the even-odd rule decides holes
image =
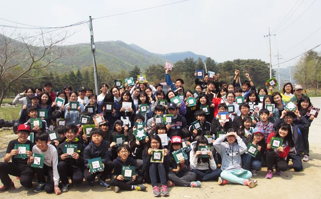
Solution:
[[[221,169],[241,169],[241,154],[247,151],[246,145],[239,136],[237,136],[236,138],[237,142],[232,145],[228,144],[228,142],[223,142],[225,138],[226,135],[221,136],[220,138],[217,138],[213,143],[214,148],[222,157]]]

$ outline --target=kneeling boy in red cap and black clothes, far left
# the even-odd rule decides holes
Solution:
[[[8,144],[7,150],[3,157],[4,162],[0,162],[0,179],[3,186],[0,187],[0,192],[5,192],[10,189],[14,189],[14,184],[9,177],[12,176],[20,177],[20,184],[26,188],[32,186],[33,170],[27,165],[28,158],[17,158],[14,155],[19,153],[18,149],[14,149],[17,144],[29,145],[29,150],[25,151],[28,157],[31,156],[32,147],[34,144],[28,140],[31,129],[29,125],[20,124],[18,126],[18,139],[11,140]],[[11,160],[11,162],[9,162]]]

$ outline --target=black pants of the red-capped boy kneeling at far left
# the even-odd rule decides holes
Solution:
[[[11,185],[9,175],[20,177],[20,184],[23,187],[32,187],[34,171],[27,164],[18,165],[12,162],[0,162],[0,179],[4,187]]]

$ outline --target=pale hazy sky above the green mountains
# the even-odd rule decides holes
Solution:
[[[56,27],[88,20],[89,15],[98,18],[177,1],[10,0],[1,2],[6,9],[2,9],[0,18]],[[320,7],[321,1],[317,0],[187,0],[94,19],[94,38],[95,42],[121,40],[157,53],[189,50],[218,62],[238,58],[269,62],[268,39],[264,35],[268,35],[270,27],[271,34],[276,34],[271,36],[272,64],[276,64],[277,51],[282,62],[321,44]],[[0,24],[22,26],[1,19]],[[65,30],[73,34],[66,44],[90,42],[87,24]],[[12,29],[3,31],[9,33]],[[29,29],[17,31],[25,35],[37,33]],[[315,50],[320,51],[321,47]],[[295,65],[298,60],[281,67]]]

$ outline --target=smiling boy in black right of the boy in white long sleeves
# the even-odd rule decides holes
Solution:
[[[58,146],[58,172],[63,185],[61,192],[69,191],[68,176],[72,177],[73,186],[80,185],[84,180],[83,167],[83,144],[78,138],[76,138],[78,128],[76,125],[71,124],[65,128],[66,140]],[[77,151],[74,151],[69,157],[68,153],[63,153],[64,145],[75,144],[77,145]]]

